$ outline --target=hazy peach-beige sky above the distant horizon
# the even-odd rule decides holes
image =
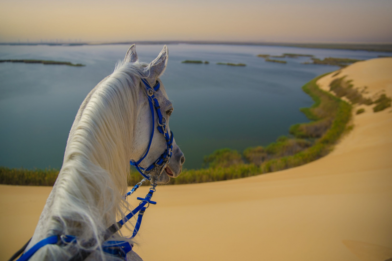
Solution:
[[[0,42],[392,42],[392,0],[0,0]]]

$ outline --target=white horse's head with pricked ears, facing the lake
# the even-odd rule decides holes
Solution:
[[[136,160],[144,155],[145,157],[139,163],[140,169],[147,169],[149,166],[152,167],[154,163],[157,163],[157,159],[164,158],[162,155],[169,154],[169,151],[167,150],[171,150],[170,156],[168,156],[168,159],[166,160],[167,164],[162,163],[162,166],[156,166],[154,171],[147,174],[151,176],[151,183],[168,183],[170,178],[178,177],[181,173],[182,165],[185,162],[184,154],[181,152],[181,149],[176,144],[174,138],[172,138],[172,141],[170,142],[168,140],[172,135],[169,127],[169,120],[174,108],[167,96],[162,80],[160,79],[160,76],[166,69],[168,57],[168,50],[165,45],[158,57],[151,63],[148,65],[140,63],[142,70],[140,71],[138,78],[138,86],[140,88],[138,96],[139,106],[134,129],[135,142],[132,148],[132,160],[134,160],[133,162],[136,162]],[[125,55],[124,62],[139,62],[135,45],[132,45],[129,48]],[[158,88],[154,88],[155,86],[158,86]],[[153,96],[149,97],[149,91],[150,94],[153,93]],[[154,103],[151,97],[156,99],[155,103],[157,104]],[[153,105],[158,105],[155,106],[155,110],[152,110],[152,107],[150,107],[151,102]],[[161,117],[158,115],[159,113],[162,114]],[[162,123],[165,126],[162,126]],[[164,131],[167,135],[162,131],[162,128],[160,129],[160,126],[165,128]],[[154,128],[152,129],[152,127]],[[165,137],[167,139],[165,139]],[[169,146],[167,146],[168,143],[170,143]]]

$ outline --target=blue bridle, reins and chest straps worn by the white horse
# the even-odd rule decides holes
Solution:
[[[129,163],[134,166],[140,174],[144,177],[142,181],[137,183],[131,191],[127,193],[126,196],[131,195],[136,189],[142,185],[143,182],[145,182],[147,179],[151,180],[151,173],[153,171],[158,172],[158,175],[162,174],[163,170],[165,169],[166,165],[169,164],[170,158],[173,154],[173,132],[170,131],[170,136],[167,133],[167,120],[165,117],[162,116],[162,112],[160,110],[159,102],[156,99],[154,93],[157,92],[160,88],[160,83],[157,81],[154,87],[151,87],[146,80],[141,79],[142,82],[144,83],[147,91],[147,98],[149,101],[150,109],[151,109],[151,118],[152,118],[152,129],[151,129],[151,136],[150,136],[150,141],[149,145],[147,147],[147,151],[145,152],[144,156],[139,159],[138,161],[130,161]],[[163,154],[154,162],[152,163],[149,167],[143,168],[140,166],[140,163],[143,161],[143,159],[147,156],[150,147],[151,147],[151,142],[152,142],[152,137],[154,136],[154,130],[155,130],[155,114],[154,114],[154,108],[156,111],[156,114],[158,115],[158,126],[157,129],[160,133],[163,134],[165,137],[166,141],[166,150],[163,152]],[[159,177],[159,176],[158,176]],[[132,210],[127,216],[125,216],[122,220],[118,221],[117,223],[111,225],[109,228],[107,228],[105,234],[104,234],[104,242],[102,243],[102,251],[122,257],[126,260],[127,253],[132,250],[133,245],[129,244],[128,241],[107,241],[109,237],[111,237],[114,233],[116,233],[120,228],[124,225],[125,222],[127,222],[129,219],[131,219],[133,216],[135,216],[138,212],[138,219],[136,221],[135,228],[132,233],[132,237],[129,239],[132,239],[133,237],[136,236],[136,234],[139,231],[140,224],[142,223],[142,218],[144,215],[145,210],[149,207],[150,204],[156,204],[155,201],[152,201],[152,194],[155,192],[155,187],[156,187],[156,182],[152,185],[150,188],[149,192],[145,196],[145,198],[137,198],[138,200],[141,200],[140,204],[138,207],[136,207],[134,210]],[[124,198],[126,198],[126,196]],[[148,205],[147,205],[148,204]],[[147,207],[145,207],[147,205]],[[67,244],[71,243],[76,243],[76,237],[75,236],[70,236],[70,235],[61,235],[61,236],[50,236],[47,237],[38,243],[36,243],[34,246],[32,246],[29,250],[27,250],[22,256],[19,257],[17,261],[27,261],[33,254],[38,251],[42,246],[45,245],[59,245],[59,246],[64,246]],[[27,245],[27,244],[26,244]],[[23,249],[23,248],[22,248]],[[71,260],[84,260],[91,254],[92,250],[84,250],[80,249],[77,254],[75,254],[73,257],[69,259]],[[12,258],[11,258],[12,260]]]

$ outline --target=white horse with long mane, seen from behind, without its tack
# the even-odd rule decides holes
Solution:
[[[95,251],[86,260],[118,260],[100,250],[102,236],[110,225],[125,216],[125,210],[130,209],[123,198],[127,192],[129,160],[140,159],[149,144],[152,115],[142,78],[150,86],[160,82],[160,90],[155,96],[170,133],[168,123],[173,106],[159,79],[165,71],[167,58],[165,45],[151,63],[139,62],[135,45],[132,45],[113,73],[87,95],[69,132],[62,168],[25,251],[54,235],[74,235],[78,244],[45,245],[30,260],[67,260],[76,247],[86,247],[80,242],[91,239],[94,244],[89,249]],[[154,129],[156,133],[150,152],[140,164],[142,167],[151,165],[166,149],[163,135]],[[170,177],[176,178],[184,161],[183,153],[173,141],[170,163],[160,176],[151,174],[152,182],[167,183]],[[129,241],[121,233],[115,234],[115,240]],[[142,259],[131,251],[127,260]]]

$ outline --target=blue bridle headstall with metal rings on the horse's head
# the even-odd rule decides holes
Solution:
[[[152,115],[152,129],[151,129],[151,136],[150,136],[150,142],[147,147],[147,151],[144,154],[144,156],[139,159],[138,161],[129,161],[132,166],[134,166],[142,176],[148,180],[151,180],[150,173],[153,170],[156,170],[157,172],[159,171],[159,174],[163,172],[163,169],[165,169],[166,165],[169,164],[170,158],[173,154],[173,132],[170,131],[170,136],[167,133],[167,126],[166,126],[166,118],[162,116],[162,112],[158,103],[158,100],[154,96],[154,93],[159,90],[160,83],[156,81],[156,84],[154,87],[151,88],[151,86],[147,83],[146,80],[142,79],[142,82],[144,83],[147,91],[147,98],[148,102],[150,105],[151,109],[151,115]],[[154,127],[155,127],[155,116],[154,116],[154,107],[156,114],[158,115],[158,127],[157,129],[159,130],[160,133],[165,136],[166,140],[166,150],[163,152],[163,154],[154,162],[152,163],[149,167],[143,168],[139,164],[142,162],[142,160],[147,156],[150,147],[151,147],[151,142],[152,142],[152,137],[154,136]],[[161,168],[161,169],[160,169]],[[160,170],[159,170],[160,169]]]

